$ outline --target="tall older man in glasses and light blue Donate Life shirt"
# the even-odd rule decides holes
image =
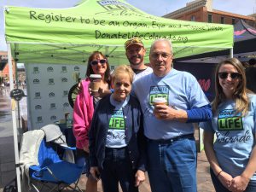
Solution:
[[[133,83],[148,138],[148,177],[153,192],[196,191],[196,146],[193,122],[212,118],[200,84],[190,73],[172,68],[172,43],[158,39],[149,60],[154,73]],[[154,98],[165,104],[154,105]]]

